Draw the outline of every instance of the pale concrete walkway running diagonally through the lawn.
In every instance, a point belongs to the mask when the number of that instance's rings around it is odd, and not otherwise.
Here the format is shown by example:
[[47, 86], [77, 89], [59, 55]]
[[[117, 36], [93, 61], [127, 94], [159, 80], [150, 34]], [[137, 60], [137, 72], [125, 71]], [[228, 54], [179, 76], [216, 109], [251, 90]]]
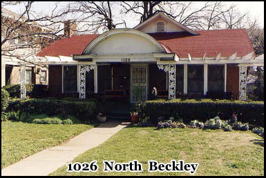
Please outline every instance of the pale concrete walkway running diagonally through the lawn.
[[119, 121], [109, 121], [102, 123], [97, 128], [92, 128], [66, 144], [48, 148], [35, 155], [26, 157], [21, 161], [3, 168], [2, 176], [44, 176], [65, 166], [66, 163], [73, 161], [75, 157], [86, 152], [86, 150], [99, 146], [107, 139], [115, 135], [122, 128], [129, 126], [130, 123]]

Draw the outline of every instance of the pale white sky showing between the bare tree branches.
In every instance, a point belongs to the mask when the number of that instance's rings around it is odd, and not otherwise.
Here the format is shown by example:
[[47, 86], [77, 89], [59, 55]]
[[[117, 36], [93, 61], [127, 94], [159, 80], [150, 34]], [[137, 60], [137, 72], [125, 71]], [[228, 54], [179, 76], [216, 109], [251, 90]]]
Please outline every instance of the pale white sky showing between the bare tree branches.
[[[53, 7], [55, 6], [55, 3], [59, 3], [58, 1], [38, 1], [33, 3], [32, 8], [34, 10], [38, 10], [39, 12], [51, 12]], [[67, 3], [67, 2], [66, 2]], [[204, 3], [202, 1], [202, 3]], [[264, 27], [264, 1], [228, 1], [228, 4], [230, 3], [236, 3], [238, 6], [238, 9], [240, 12], [246, 12], [249, 11], [252, 18], [258, 19], [258, 24], [260, 27]], [[117, 5], [117, 9], [119, 6]], [[19, 8], [8, 8], [9, 10], [12, 10], [13, 12], [21, 12], [21, 9]], [[119, 19], [126, 20], [126, 26], [127, 28], [133, 28], [137, 26], [140, 19], [139, 17], [136, 17], [135, 14], [128, 14], [128, 15], [122, 15], [120, 14], [120, 10], [117, 10], [115, 14], [118, 15]], [[124, 28], [123, 26], [119, 26], [118, 28]]]

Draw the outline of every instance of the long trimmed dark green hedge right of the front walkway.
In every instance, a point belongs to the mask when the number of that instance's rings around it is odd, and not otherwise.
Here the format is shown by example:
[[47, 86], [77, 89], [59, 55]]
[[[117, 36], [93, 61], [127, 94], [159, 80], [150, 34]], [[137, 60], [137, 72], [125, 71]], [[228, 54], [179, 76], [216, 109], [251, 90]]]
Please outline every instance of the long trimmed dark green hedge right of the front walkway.
[[184, 123], [193, 120], [205, 122], [213, 117], [231, 119], [236, 113], [238, 121], [264, 126], [264, 102], [232, 101], [218, 99], [172, 99], [153, 100], [140, 103], [140, 116], [149, 117], [151, 123], [158, 123], [158, 117], [182, 118]]

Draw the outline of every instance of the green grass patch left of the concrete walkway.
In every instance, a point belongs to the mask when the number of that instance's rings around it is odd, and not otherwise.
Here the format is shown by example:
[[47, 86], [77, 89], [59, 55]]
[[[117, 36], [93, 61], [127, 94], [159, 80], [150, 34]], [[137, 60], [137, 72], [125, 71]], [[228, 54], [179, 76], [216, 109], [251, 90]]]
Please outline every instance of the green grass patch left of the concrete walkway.
[[35, 154], [46, 148], [59, 145], [92, 125], [35, 124], [1, 122], [1, 168]]

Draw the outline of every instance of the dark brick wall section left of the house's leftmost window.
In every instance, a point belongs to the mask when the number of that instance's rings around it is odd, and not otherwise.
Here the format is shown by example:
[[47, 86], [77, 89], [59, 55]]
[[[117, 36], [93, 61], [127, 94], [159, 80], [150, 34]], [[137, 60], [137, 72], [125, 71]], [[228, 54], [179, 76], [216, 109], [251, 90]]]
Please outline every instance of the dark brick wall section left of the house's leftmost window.
[[50, 96], [59, 97], [62, 95], [62, 66], [48, 66], [49, 68], [49, 91]]

